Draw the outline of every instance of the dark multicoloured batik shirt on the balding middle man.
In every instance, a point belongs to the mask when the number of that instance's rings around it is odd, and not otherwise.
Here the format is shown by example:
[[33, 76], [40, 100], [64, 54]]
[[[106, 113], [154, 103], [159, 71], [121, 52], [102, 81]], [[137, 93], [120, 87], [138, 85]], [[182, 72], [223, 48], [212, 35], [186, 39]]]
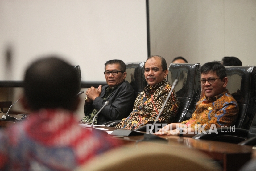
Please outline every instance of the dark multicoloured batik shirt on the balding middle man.
[[[150, 87], [147, 85], [144, 91], [138, 94], [132, 113], [116, 126], [122, 129], [136, 129], [155, 121], [160, 109], [171, 90], [171, 84], [166, 80]], [[159, 117], [159, 122], [172, 123], [176, 117], [179, 101], [173, 91], [167, 101], [163, 112]]]

